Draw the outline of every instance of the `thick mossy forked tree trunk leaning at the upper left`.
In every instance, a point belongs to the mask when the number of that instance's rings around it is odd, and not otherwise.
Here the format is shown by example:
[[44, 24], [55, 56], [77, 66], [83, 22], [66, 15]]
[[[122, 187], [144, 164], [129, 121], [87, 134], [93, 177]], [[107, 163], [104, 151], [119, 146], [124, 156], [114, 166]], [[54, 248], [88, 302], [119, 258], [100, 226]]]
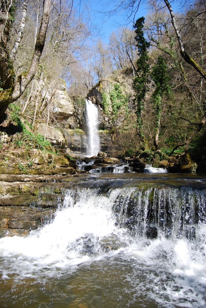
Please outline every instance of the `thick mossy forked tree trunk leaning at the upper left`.
[[[8, 37], [10, 34], [10, 15], [12, 12], [12, 0], [5, 0], [0, 8], [0, 31], [1, 31], [1, 58], [0, 58], [0, 123], [4, 120], [5, 111], [10, 103], [15, 102], [25, 91], [26, 87], [34, 78], [40, 57], [44, 48], [46, 31], [49, 21], [49, 10], [51, 0], [43, 1], [43, 12], [41, 24], [37, 35], [34, 53], [31, 59], [30, 67], [25, 74], [19, 75], [15, 79], [13, 62], [10, 59], [8, 51]], [[14, 80], [15, 79], [15, 80]]]

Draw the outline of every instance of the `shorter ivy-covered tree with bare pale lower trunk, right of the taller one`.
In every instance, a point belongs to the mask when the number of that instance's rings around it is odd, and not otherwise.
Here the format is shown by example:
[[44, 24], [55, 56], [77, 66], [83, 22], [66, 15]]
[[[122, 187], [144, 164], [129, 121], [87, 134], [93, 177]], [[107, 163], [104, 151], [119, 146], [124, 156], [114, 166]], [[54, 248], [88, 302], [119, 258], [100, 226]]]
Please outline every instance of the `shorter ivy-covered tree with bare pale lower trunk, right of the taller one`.
[[162, 100], [170, 92], [168, 67], [164, 58], [159, 55], [156, 65], [152, 68], [151, 77], [156, 85], [155, 91], [151, 96], [153, 108], [155, 109], [155, 137], [154, 146], [157, 150], [159, 144], [160, 119], [162, 114]]

